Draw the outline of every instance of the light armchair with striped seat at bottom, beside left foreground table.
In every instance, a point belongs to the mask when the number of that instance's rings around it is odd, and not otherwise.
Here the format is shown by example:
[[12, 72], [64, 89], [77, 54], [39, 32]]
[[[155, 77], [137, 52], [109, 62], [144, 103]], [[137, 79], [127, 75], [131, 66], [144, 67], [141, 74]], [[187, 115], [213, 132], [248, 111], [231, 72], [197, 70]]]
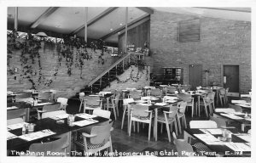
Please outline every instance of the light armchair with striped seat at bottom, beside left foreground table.
[[75, 140], [75, 148], [83, 148], [85, 154], [96, 154], [102, 149], [110, 149], [109, 152], [113, 152], [111, 140], [112, 125], [113, 122], [105, 123], [102, 126], [86, 128], [86, 132], [82, 133], [83, 140]]

